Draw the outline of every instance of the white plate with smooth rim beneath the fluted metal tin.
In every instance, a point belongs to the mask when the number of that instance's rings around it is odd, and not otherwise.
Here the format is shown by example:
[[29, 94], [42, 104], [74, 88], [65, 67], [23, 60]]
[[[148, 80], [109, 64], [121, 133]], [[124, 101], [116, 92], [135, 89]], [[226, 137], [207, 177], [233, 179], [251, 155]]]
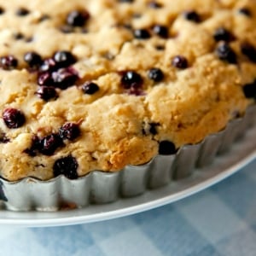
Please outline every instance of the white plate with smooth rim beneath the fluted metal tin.
[[166, 187], [148, 190], [143, 195], [119, 199], [106, 205], [90, 205], [83, 209], [61, 212], [10, 212], [0, 211], [0, 224], [26, 227], [59, 226], [84, 224], [119, 218], [137, 212], [164, 206], [193, 195], [229, 177], [241, 167], [256, 158], [256, 125], [247, 132], [241, 141], [234, 144], [227, 154], [218, 156], [212, 166], [195, 171], [182, 181], [173, 182]]

